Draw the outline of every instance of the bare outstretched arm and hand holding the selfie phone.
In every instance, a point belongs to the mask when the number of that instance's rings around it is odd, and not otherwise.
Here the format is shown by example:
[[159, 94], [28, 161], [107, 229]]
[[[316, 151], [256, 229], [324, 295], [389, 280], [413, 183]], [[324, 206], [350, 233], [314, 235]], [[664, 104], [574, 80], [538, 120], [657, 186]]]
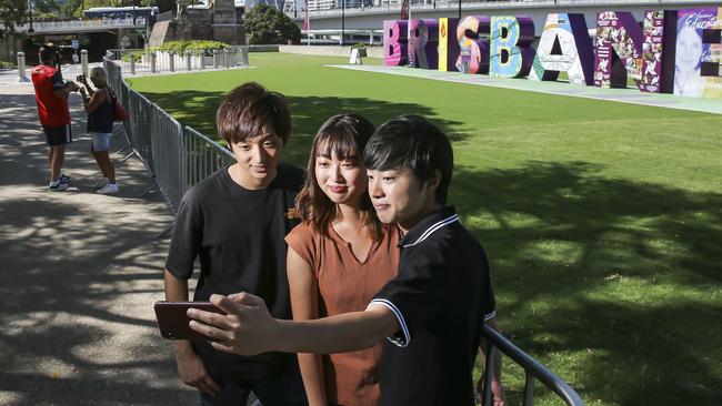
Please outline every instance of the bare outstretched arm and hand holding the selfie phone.
[[385, 306], [369, 306], [312, 321], [271, 317], [262, 298], [248, 293], [212, 295], [211, 302], [228, 315], [190, 308], [192, 329], [213, 341], [215, 349], [240, 355], [270, 351], [284, 353], [345, 353], [368, 348], [399, 331], [399, 322]]

